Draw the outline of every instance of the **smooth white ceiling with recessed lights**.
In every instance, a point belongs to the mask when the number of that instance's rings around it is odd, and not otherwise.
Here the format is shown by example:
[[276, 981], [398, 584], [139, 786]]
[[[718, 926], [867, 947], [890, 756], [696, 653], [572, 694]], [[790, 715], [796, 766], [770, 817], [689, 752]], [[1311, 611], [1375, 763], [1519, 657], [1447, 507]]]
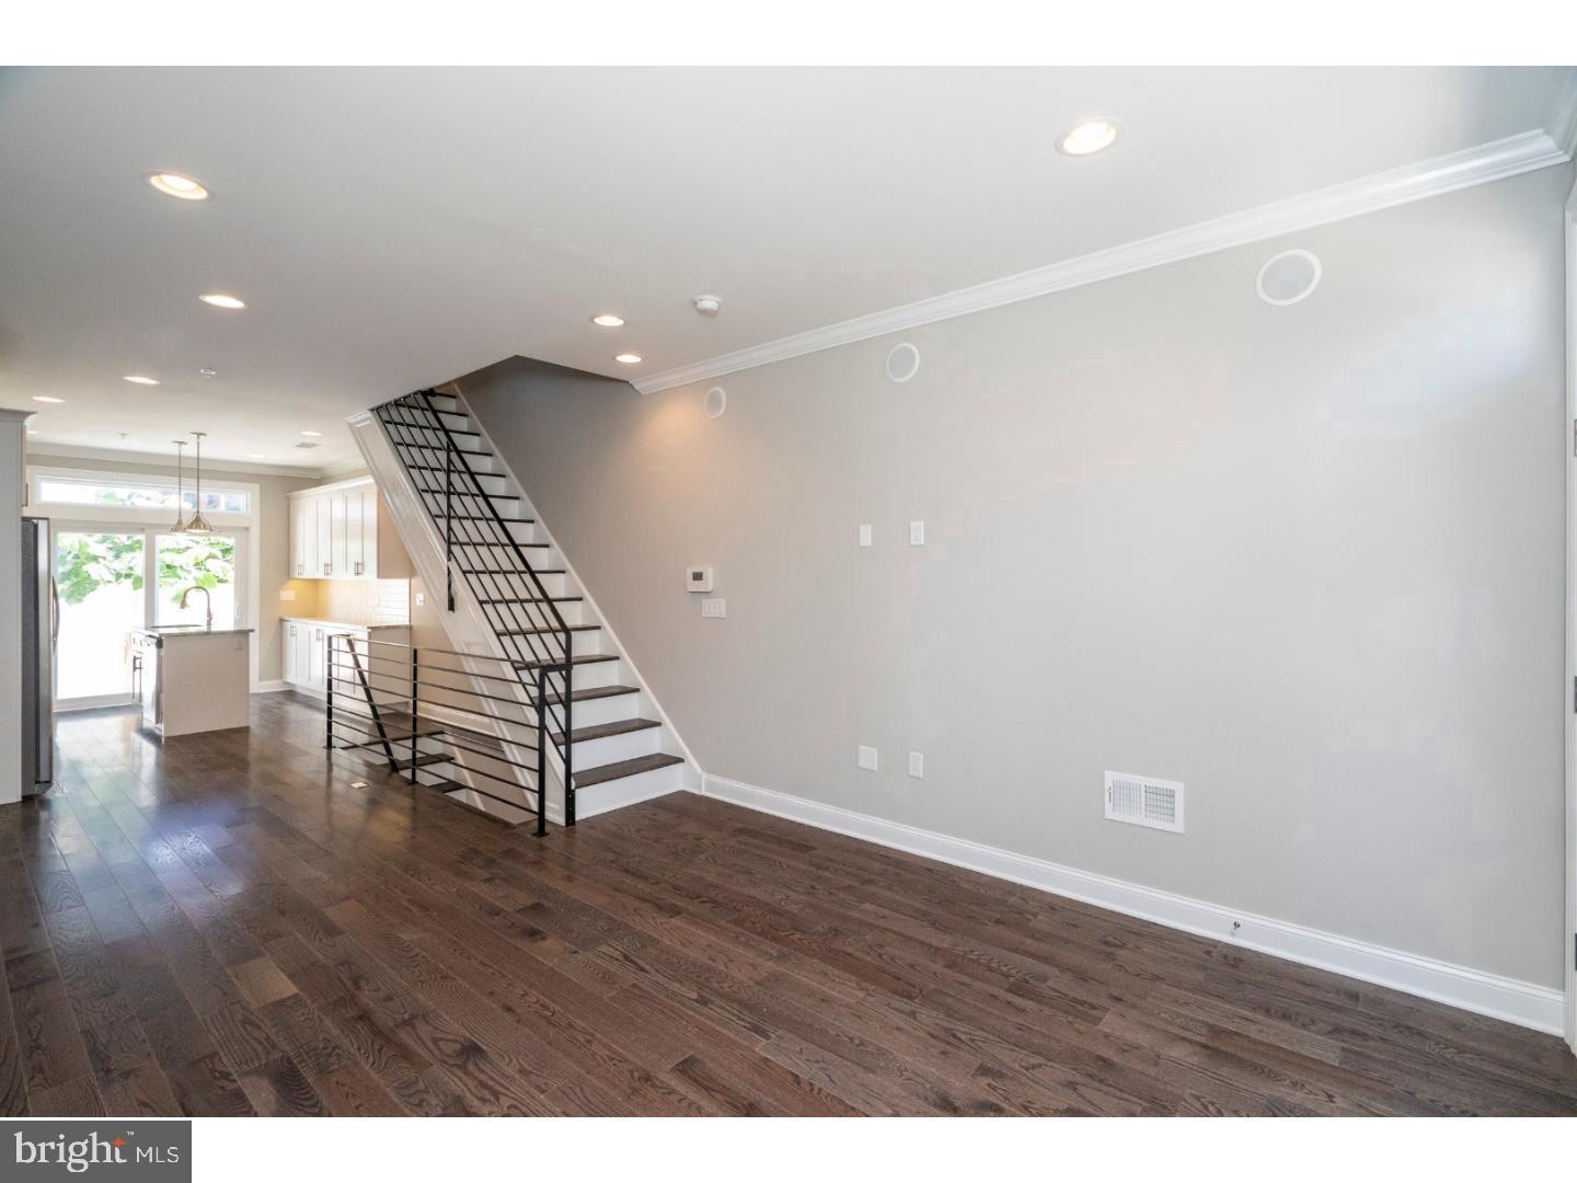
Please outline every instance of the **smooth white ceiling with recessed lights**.
[[[672, 369], [1544, 128], [1560, 80], [8, 69], [0, 405], [38, 410], [38, 443], [164, 451], [199, 429], [205, 457], [333, 467], [355, 457], [345, 415], [513, 353]], [[1053, 150], [1096, 114], [1126, 126], [1113, 150]], [[213, 200], [159, 196], [155, 169]], [[699, 292], [721, 315], [692, 311]], [[615, 364], [623, 349], [645, 364]], [[319, 450], [295, 450], [303, 429]]]

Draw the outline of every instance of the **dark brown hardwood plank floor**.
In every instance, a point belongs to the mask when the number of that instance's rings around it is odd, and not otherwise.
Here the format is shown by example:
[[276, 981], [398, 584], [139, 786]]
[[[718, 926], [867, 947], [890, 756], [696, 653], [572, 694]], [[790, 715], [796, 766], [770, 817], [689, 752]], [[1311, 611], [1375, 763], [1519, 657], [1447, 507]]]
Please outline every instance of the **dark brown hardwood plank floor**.
[[0, 809], [0, 1114], [1577, 1114], [1553, 1036], [713, 800], [136, 724]]

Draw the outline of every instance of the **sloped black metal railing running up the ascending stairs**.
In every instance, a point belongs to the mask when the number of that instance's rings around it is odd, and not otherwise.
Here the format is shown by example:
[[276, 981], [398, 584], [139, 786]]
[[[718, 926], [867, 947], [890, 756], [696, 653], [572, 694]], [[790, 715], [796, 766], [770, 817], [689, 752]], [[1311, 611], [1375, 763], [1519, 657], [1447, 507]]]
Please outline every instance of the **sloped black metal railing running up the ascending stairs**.
[[[453, 396], [448, 396], [453, 397]], [[459, 404], [457, 404], [459, 405]], [[434, 405], [432, 391], [418, 391], [375, 409], [385, 435], [440, 532], [445, 546], [446, 603], [454, 610], [454, 576], [472, 592], [517, 681], [539, 715], [546, 741], [558, 735], [565, 782], [565, 825], [574, 825], [574, 634], [547, 593], [541, 573], [511, 532], [456, 431]], [[438, 478], [442, 476], [442, 487]]]

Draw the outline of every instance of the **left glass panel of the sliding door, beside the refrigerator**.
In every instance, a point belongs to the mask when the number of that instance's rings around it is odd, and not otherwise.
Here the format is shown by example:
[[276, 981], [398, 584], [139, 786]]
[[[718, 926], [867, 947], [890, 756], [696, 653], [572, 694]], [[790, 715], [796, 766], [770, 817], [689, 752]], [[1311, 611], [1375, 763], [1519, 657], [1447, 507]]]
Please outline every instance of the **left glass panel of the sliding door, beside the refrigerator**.
[[145, 532], [58, 528], [54, 550], [60, 596], [58, 705], [134, 702], [131, 631], [147, 623]]

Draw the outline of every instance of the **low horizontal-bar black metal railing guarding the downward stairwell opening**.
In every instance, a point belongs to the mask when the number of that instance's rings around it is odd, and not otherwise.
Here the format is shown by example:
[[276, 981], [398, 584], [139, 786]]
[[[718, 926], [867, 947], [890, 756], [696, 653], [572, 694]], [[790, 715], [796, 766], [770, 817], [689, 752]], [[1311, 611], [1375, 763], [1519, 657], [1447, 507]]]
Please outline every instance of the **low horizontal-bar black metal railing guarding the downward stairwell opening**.
[[[325, 675], [331, 751], [360, 752], [369, 765], [408, 773], [412, 784], [434, 770], [440, 792], [533, 812], [536, 833], [547, 833], [547, 716], [495, 692], [519, 681], [509, 658], [333, 633]], [[544, 678], [546, 667], [538, 697]]]

